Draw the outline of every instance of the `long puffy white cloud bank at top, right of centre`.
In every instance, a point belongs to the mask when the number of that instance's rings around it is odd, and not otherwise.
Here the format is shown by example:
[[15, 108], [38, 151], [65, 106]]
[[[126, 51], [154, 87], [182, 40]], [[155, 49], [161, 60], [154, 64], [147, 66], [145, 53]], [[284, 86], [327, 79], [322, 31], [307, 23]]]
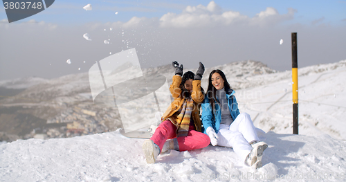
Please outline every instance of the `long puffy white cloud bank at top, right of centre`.
[[208, 6], [188, 6], [181, 12], [175, 14], [168, 12], [160, 19], [161, 27], [205, 27], [205, 26], [228, 26], [232, 24], [247, 24], [265, 26], [268, 24], [278, 24], [281, 21], [293, 19], [294, 12], [289, 8], [289, 12], [280, 15], [275, 8], [268, 7], [266, 10], [258, 13], [255, 17], [250, 18], [240, 12], [226, 11], [223, 12], [214, 1], [210, 1]]

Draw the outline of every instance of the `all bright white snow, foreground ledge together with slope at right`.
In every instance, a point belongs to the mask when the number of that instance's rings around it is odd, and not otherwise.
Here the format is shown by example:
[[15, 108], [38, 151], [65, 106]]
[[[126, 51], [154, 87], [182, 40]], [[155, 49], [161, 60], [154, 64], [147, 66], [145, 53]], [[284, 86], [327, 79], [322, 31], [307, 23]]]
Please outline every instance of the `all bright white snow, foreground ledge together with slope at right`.
[[219, 67], [238, 87], [239, 111], [266, 131], [260, 169], [246, 167], [233, 149], [212, 145], [172, 150], [148, 165], [141, 149], [145, 139], [126, 138], [117, 130], [1, 143], [0, 181], [346, 181], [346, 61], [298, 70], [299, 135], [291, 134], [290, 71], [251, 76]]

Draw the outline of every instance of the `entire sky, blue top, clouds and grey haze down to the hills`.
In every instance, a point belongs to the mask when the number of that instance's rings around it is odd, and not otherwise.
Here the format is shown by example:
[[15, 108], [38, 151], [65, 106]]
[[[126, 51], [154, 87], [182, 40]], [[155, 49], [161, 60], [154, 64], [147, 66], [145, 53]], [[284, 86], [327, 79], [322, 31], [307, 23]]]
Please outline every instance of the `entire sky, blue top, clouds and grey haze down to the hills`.
[[255, 60], [285, 71], [292, 32], [299, 67], [346, 60], [346, 1], [55, 1], [10, 24], [0, 6], [0, 80], [86, 72], [127, 48], [143, 68]]

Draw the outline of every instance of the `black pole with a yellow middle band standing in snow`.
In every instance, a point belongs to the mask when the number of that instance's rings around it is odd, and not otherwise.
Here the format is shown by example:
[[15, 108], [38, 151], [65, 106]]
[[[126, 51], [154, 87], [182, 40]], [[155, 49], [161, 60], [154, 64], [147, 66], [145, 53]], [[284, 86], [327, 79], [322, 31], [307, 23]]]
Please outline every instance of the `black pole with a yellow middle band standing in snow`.
[[298, 134], [298, 58], [297, 33], [292, 37], [292, 96], [293, 96], [293, 134]]

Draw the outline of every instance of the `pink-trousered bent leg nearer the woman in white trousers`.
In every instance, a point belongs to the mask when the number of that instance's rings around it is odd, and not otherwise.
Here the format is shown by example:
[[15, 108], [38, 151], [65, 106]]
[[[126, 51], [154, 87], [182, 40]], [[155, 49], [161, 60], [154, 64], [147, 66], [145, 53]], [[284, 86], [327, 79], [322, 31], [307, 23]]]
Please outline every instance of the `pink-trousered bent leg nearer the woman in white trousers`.
[[190, 127], [188, 136], [180, 136], [177, 138], [179, 151], [201, 149], [210, 144], [210, 138], [208, 135], [195, 131], [193, 128], [193, 126]]

